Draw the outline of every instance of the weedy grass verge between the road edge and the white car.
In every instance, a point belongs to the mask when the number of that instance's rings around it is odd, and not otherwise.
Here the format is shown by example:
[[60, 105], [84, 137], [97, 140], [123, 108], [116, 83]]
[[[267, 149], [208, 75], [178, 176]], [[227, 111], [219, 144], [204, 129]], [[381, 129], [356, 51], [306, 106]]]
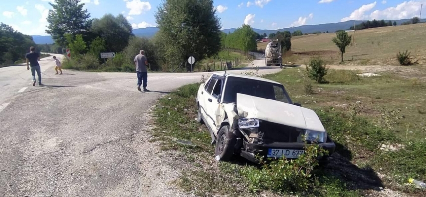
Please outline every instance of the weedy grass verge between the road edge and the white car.
[[[209, 133], [205, 126], [194, 120], [199, 85], [179, 88], [161, 98], [154, 109], [157, 128], [152, 132], [153, 141], [160, 140], [163, 150], [185, 153], [183, 160], [193, 165], [193, 168], [185, 169], [178, 180], [181, 189], [198, 196], [359, 196], [358, 189], [350, 189], [337, 175], [324, 173], [327, 169], [315, 167], [315, 162], [309, 158], [293, 162], [278, 160], [260, 166], [239, 157], [232, 162], [215, 161]], [[295, 169], [299, 168], [303, 168], [303, 173], [296, 173]]]

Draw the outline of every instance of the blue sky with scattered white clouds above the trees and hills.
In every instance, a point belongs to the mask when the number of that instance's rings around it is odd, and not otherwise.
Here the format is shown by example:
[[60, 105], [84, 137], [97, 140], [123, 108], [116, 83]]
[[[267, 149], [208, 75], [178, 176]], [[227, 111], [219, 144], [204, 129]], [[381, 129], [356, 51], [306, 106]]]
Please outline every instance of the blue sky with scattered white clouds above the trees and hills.
[[[47, 16], [54, 0], [1, 0], [0, 22], [27, 35], [47, 35]], [[156, 26], [162, 0], [80, 0], [92, 18], [123, 14], [133, 28]], [[396, 20], [420, 15], [426, 0], [214, 0], [222, 29], [249, 24], [276, 30], [347, 20]], [[426, 8], [424, 16], [426, 17]], [[422, 17], [422, 18], [425, 18]]]

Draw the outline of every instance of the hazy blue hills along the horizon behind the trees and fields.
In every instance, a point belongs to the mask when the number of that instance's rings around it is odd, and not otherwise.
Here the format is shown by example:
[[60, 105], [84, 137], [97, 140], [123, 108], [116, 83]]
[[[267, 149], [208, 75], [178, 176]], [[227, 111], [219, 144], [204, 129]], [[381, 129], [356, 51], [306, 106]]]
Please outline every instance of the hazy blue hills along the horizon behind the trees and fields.
[[[385, 20], [388, 21], [388, 20]], [[396, 23], [398, 25], [400, 25], [401, 23], [410, 21], [410, 19], [401, 19], [401, 20], [391, 20], [396, 21]], [[351, 21], [345, 21], [345, 22], [339, 22], [339, 23], [326, 23], [326, 24], [319, 24], [319, 25], [302, 25], [299, 27], [292, 27], [292, 28], [283, 28], [283, 29], [279, 29], [279, 30], [260, 30], [260, 29], [256, 29], [253, 28], [253, 30], [259, 34], [263, 34], [266, 33], [267, 35], [269, 35], [270, 33], [276, 33], [277, 31], [290, 31], [290, 32], [294, 32], [297, 30], [302, 31], [302, 33], [313, 33], [313, 32], [335, 32], [337, 30], [346, 30], [349, 29], [351, 26], [355, 24], [359, 24], [365, 21], [355, 21], [355, 20], [351, 20]], [[421, 22], [426, 22], [426, 19], [421, 19]], [[233, 33], [236, 30], [236, 28], [231, 28], [231, 29], [224, 29], [222, 30], [222, 32], [224, 33]], [[138, 37], [146, 37], [146, 38], [151, 38], [152, 36], [155, 35], [155, 33], [158, 32], [158, 28], [157, 27], [147, 27], [147, 28], [138, 28], [138, 29], [134, 29], [133, 30], [133, 34], [135, 34]], [[50, 35], [46, 35], [46, 36], [40, 36], [40, 35], [33, 35], [33, 40], [34, 42], [36, 42], [36, 44], [53, 44], [54, 41], [52, 40], [52, 37]]]

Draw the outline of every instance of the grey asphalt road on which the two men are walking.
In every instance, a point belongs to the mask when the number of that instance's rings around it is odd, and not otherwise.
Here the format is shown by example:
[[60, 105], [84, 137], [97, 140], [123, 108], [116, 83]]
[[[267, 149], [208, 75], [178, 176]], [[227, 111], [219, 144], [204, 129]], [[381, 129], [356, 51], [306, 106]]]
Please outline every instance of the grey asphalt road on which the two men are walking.
[[162, 178], [176, 169], [148, 142], [146, 114], [207, 73], [148, 73], [151, 91], [141, 93], [135, 73], [54, 75], [52, 57], [40, 64], [44, 86], [35, 87], [26, 66], [0, 68], [0, 196], [177, 196]]

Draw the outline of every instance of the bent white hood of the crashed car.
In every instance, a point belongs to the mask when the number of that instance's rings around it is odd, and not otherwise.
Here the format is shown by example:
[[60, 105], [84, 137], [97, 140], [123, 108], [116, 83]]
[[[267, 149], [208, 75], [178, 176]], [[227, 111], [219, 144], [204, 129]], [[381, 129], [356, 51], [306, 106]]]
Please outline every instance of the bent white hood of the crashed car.
[[238, 115], [295, 128], [325, 132], [317, 114], [304, 107], [237, 93]]

